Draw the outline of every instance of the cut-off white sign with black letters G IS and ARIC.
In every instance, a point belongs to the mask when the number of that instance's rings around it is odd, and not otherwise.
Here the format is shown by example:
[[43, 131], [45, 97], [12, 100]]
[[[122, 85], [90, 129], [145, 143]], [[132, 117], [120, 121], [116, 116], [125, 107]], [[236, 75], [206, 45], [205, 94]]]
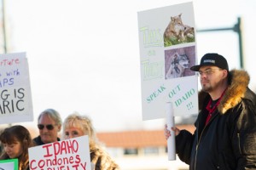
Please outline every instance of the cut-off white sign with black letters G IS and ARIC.
[[33, 121], [26, 53], [0, 55], [0, 124]]

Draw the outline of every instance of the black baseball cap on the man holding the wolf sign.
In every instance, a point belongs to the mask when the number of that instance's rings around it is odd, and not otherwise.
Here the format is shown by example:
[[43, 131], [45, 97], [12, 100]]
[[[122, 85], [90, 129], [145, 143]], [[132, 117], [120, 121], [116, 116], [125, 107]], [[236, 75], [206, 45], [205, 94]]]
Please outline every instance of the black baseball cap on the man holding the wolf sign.
[[199, 71], [200, 67], [204, 66], [204, 65], [217, 66], [218, 68], [229, 71], [228, 62], [224, 58], [224, 56], [222, 56], [220, 54], [215, 54], [215, 53], [205, 54], [201, 58], [200, 65], [194, 65], [194, 66], [190, 67], [190, 70], [191, 71]]

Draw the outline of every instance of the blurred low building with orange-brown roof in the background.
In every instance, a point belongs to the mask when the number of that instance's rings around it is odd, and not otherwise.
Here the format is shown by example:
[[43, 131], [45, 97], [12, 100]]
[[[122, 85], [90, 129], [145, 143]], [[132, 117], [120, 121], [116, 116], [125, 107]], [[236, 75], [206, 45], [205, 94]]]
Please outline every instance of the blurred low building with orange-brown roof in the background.
[[[177, 125], [194, 133], [193, 125]], [[178, 159], [168, 161], [167, 142], [163, 130], [141, 130], [97, 133], [122, 170], [189, 170]]]

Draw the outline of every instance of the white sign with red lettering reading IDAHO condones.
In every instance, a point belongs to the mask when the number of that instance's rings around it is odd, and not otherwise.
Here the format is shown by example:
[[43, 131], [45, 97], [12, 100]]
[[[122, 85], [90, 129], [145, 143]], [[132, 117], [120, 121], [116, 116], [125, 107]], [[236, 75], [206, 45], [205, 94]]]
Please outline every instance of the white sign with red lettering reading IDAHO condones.
[[31, 170], [90, 170], [88, 136], [62, 140], [28, 149]]

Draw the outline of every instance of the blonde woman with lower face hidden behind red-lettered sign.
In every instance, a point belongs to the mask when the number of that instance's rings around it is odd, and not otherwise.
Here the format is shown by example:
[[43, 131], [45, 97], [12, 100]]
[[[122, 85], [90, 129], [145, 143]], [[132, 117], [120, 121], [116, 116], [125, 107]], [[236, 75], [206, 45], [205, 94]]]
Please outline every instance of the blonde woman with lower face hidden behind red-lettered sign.
[[73, 113], [63, 123], [63, 139], [72, 139], [83, 135], [89, 136], [90, 162], [95, 170], [119, 170], [119, 166], [108, 153], [102, 149], [102, 145], [96, 138], [96, 133], [90, 119]]

